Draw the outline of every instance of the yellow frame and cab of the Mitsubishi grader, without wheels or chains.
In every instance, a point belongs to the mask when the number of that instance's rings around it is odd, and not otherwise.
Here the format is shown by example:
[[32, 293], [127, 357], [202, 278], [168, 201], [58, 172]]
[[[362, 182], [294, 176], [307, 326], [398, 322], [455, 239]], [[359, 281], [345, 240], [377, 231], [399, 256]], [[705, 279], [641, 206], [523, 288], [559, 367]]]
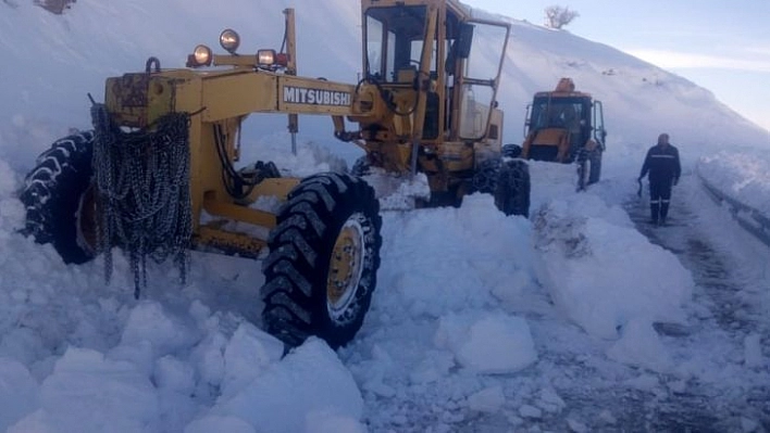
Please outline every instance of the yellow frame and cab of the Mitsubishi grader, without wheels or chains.
[[[209, 50], [199, 63], [190, 55], [187, 68], [161, 69], [150, 59], [145, 72], [107, 80], [107, 111], [121, 128], [152, 130], [166, 114], [189, 114], [194, 245], [256, 254], [275, 215], [251, 204], [260, 196], [284, 199], [299, 182], [269, 178], [246, 196], [227, 191], [218, 145], [228, 161], [238, 161], [240, 125], [250, 114], [287, 114], [291, 132], [298, 115], [331, 116], [334, 135], [363, 148], [372, 166], [424, 173], [437, 199], [458, 200], [480, 161], [499, 154], [502, 112], [496, 91], [509, 25], [474, 20], [456, 0], [362, 0], [361, 7], [358, 84], [297, 75], [291, 9], [285, 11], [286, 52], [272, 53], [283, 64]], [[487, 36], [497, 38], [492, 67], [474, 51]], [[266, 230], [233, 230], [233, 221]]]

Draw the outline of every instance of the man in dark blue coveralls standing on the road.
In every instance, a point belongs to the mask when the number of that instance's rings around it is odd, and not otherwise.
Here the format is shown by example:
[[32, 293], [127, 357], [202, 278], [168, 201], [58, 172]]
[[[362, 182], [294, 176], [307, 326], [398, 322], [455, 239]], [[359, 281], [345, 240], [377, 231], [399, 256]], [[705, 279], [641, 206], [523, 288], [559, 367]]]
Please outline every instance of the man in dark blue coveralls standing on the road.
[[644, 160], [639, 181], [649, 173], [650, 224], [665, 225], [671, 202], [671, 187], [679, 182], [682, 166], [679, 150], [669, 143], [669, 135], [658, 136], [658, 144], [649, 148]]

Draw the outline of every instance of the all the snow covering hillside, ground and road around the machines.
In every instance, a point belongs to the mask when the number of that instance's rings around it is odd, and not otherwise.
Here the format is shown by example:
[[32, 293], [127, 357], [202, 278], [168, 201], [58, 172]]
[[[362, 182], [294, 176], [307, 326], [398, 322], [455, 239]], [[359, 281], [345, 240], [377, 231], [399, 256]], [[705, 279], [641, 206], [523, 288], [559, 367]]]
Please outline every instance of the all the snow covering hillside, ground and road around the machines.
[[[259, 329], [259, 263], [196, 253], [186, 285], [170, 264], [152, 267], [135, 301], [124, 257], [105, 285], [101, 260], [65, 266], [16, 232], [24, 175], [54, 139], [89, 128], [87, 93], [99, 100], [107, 76], [150, 55], [179, 67], [225, 27], [244, 50], [278, 48], [287, 7], [299, 73], [355, 82], [356, 1], [79, 0], [62, 16], [0, 3], [0, 430], [770, 430], [770, 253], [693, 176], [703, 160], [715, 182], [750, 186], [741, 199], [757, 200], [768, 132], [681, 77], [566, 31], [511, 21], [505, 137], [519, 142], [532, 93], [570, 76], [605, 104], [603, 181], [575, 194], [573, 167], [533, 163], [531, 219], [505, 217], [486, 195], [384, 213], [372, 308], [336, 353], [311, 339], [281, 357]], [[291, 156], [284, 125], [250, 119], [244, 160], [309, 174], [356, 156], [327, 118], [300, 119]], [[647, 233], [669, 242], [656, 244], [629, 212], [645, 211], [635, 179], [663, 131], [685, 170], [679, 224]], [[704, 245], [719, 263], [699, 275], [681, 253]], [[704, 281], [719, 278], [730, 291], [712, 296]]]

